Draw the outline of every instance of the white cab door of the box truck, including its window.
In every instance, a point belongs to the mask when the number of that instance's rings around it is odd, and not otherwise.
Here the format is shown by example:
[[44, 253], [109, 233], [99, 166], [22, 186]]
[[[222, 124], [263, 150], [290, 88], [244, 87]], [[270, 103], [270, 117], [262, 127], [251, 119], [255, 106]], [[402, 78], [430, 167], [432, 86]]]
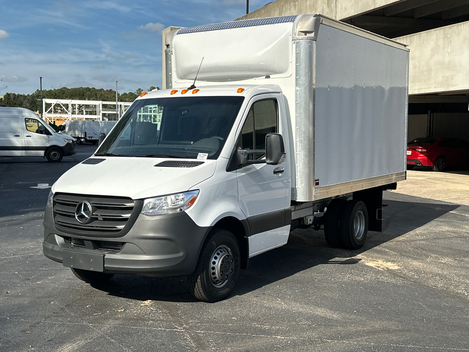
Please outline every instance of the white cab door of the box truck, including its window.
[[[280, 133], [287, 142], [281, 108], [280, 94], [257, 96], [244, 119], [237, 147], [265, 150], [267, 133]], [[254, 158], [265, 159], [265, 155], [254, 154]], [[239, 205], [250, 226], [250, 257], [287, 243], [291, 222], [289, 162], [287, 156], [279, 165], [251, 164], [236, 170]]]

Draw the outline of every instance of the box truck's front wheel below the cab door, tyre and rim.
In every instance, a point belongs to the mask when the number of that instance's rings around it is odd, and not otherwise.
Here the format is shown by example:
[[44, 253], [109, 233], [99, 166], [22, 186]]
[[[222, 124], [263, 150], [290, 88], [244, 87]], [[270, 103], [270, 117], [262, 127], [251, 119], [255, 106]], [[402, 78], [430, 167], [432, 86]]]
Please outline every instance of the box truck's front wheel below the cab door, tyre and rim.
[[240, 270], [241, 255], [236, 237], [227, 230], [212, 229], [189, 275], [191, 293], [203, 302], [227, 298]]

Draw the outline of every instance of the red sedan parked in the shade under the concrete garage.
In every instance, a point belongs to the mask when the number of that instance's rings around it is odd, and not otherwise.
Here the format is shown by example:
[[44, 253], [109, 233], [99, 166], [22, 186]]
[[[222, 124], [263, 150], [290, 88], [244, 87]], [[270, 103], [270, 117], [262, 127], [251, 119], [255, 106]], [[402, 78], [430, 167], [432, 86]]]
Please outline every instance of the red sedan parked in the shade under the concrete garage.
[[407, 144], [407, 169], [430, 166], [443, 171], [447, 166], [469, 164], [469, 143], [461, 138], [416, 138]]

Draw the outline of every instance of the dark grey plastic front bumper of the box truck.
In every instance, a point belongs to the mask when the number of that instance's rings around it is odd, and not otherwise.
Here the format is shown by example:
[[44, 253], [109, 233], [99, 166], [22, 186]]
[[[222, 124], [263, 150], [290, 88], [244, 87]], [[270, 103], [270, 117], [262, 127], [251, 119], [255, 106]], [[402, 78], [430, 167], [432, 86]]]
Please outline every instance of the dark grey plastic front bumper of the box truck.
[[210, 228], [197, 226], [185, 212], [155, 217], [140, 214], [122, 237], [84, 237], [57, 230], [52, 208], [46, 208], [44, 230], [43, 251], [49, 259], [63, 262], [63, 251], [71, 249], [104, 254], [106, 273], [180, 276], [195, 270]]

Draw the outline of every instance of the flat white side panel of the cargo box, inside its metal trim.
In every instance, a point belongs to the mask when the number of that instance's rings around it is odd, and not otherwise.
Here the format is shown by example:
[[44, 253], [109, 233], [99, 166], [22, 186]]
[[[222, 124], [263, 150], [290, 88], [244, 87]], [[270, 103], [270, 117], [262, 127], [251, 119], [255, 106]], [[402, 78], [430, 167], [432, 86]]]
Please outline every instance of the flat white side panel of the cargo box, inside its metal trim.
[[319, 187], [406, 169], [408, 51], [321, 25], [316, 50]]

